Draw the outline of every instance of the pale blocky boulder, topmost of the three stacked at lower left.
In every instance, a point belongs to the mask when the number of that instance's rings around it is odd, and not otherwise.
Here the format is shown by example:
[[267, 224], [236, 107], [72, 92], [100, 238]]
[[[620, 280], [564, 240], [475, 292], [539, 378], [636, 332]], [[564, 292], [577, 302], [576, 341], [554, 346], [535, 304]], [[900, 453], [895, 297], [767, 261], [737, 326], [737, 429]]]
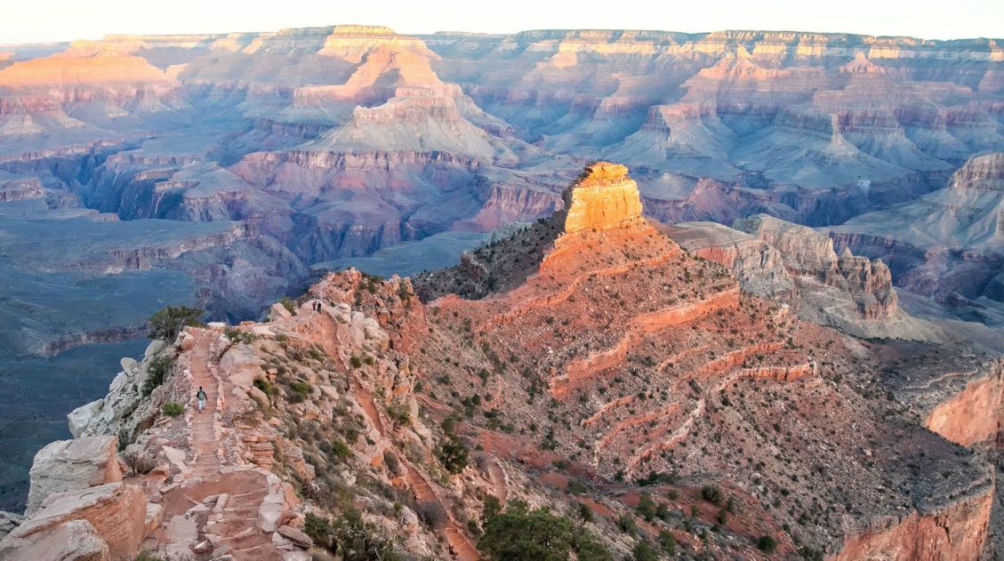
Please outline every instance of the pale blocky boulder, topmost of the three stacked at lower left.
[[25, 513], [37, 512], [47, 497], [57, 493], [120, 482], [117, 446], [116, 437], [84, 437], [56, 441], [38, 451], [31, 465]]

